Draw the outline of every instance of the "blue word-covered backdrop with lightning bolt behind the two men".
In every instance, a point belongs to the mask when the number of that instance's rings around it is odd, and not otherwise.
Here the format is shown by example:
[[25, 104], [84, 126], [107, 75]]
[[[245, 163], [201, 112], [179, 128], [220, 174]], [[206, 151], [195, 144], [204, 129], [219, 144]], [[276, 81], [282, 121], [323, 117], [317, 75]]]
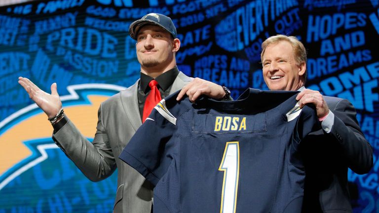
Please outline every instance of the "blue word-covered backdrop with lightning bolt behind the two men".
[[[150, 12], [173, 19], [180, 70], [226, 85], [234, 98], [247, 87], [267, 89], [266, 37], [297, 36], [308, 51], [306, 86], [358, 111], [375, 152], [369, 174], [349, 171], [352, 203], [356, 213], [379, 212], [379, 0], [37, 0], [0, 7], [0, 213], [112, 211], [116, 174], [85, 178], [52, 142], [17, 77], [47, 92], [57, 82], [64, 106], [91, 112], [95, 125], [90, 97], [106, 99], [139, 77], [128, 27]], [[86, 128], [88, 119], [75, 123]], [[28, 121], [34, 129], [25, 131]]]

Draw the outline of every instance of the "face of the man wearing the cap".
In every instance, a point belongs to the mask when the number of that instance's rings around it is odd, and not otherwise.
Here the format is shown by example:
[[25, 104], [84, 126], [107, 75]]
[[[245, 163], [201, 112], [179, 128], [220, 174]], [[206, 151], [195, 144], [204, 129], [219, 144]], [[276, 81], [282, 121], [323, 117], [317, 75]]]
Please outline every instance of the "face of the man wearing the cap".
[[170, 33], [155, 25], [142, 27], [137, 35], [137, 58], [144, 68], [165, 67], [175, 60]]

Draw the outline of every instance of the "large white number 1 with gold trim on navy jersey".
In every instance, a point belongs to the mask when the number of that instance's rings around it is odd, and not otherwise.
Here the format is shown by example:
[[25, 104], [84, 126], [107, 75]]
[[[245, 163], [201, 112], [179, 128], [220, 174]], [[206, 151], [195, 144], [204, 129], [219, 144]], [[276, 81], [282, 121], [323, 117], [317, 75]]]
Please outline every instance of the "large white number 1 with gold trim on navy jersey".
[[220, 213], [235, 213], [239, 177], [238, 142], [227, 142], [219, 171], [224, 171]]

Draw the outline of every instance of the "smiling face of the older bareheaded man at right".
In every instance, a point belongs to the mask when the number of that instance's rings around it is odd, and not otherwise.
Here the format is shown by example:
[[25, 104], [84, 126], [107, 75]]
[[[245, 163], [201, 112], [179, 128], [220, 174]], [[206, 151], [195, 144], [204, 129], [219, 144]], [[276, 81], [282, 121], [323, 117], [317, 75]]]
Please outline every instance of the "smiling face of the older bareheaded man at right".
[[296, 63], [293, 47], [288, 41], [268, 45], [262, 65], [263, 77], [270, 90], [296, 91], [303, 86], [301, 77], [305, 73], [305, 63]]

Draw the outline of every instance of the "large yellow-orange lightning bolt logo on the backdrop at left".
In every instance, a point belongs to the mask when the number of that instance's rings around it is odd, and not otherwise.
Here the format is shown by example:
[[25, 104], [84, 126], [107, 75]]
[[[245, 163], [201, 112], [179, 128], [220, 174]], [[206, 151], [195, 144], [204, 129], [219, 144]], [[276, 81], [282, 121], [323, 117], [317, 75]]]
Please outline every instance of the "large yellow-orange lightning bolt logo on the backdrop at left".
[[[65, 113], [86, 138], [92, 138], [96, 131], [96, 115], [100, 103], [125, 87], [80, 84], [68, 86], [67, 89], [70, 95], [61, 97]], [[27, 106], [0, 122], [0, 190], [14, 178], [47, 159], [46, 149], [58, 148], [51, 139], [52, 130], [46, 115], [36, 104]], [[48, 138], [50, 140], [41, 140]]]

